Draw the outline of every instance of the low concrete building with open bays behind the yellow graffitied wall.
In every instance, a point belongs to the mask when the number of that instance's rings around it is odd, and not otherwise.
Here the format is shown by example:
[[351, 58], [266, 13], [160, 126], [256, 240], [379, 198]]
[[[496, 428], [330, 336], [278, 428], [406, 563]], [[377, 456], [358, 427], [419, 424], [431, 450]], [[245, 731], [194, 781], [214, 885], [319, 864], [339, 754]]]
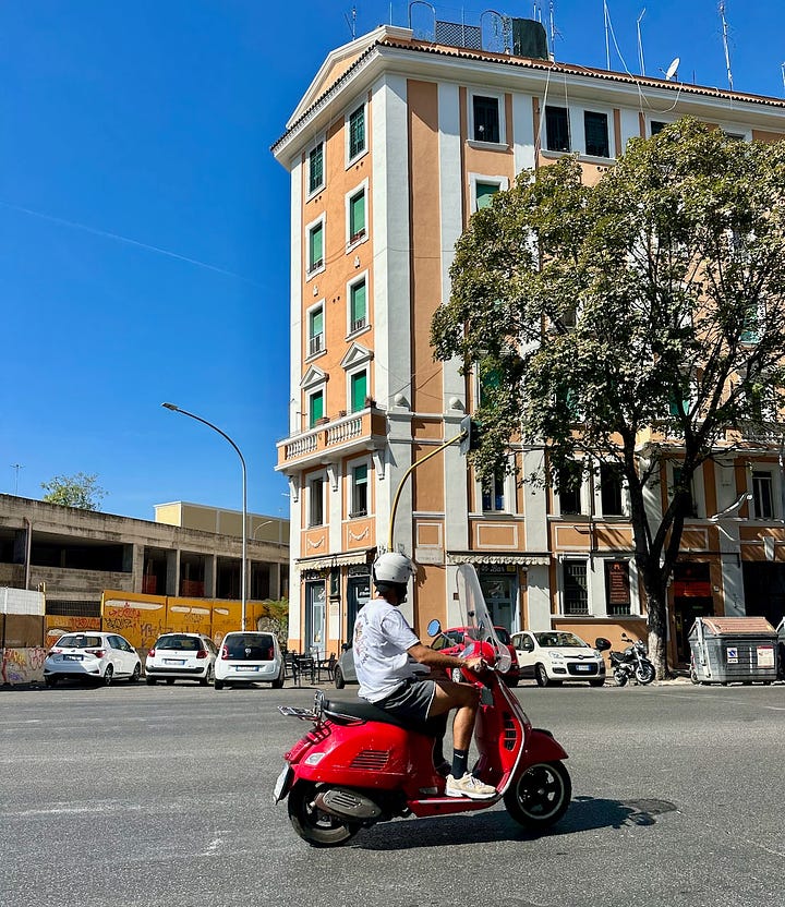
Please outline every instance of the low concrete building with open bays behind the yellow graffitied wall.
[[[100, 615], [106, 589], [240, 598], [242, 515], [177, 501], [156, 522], [0, 495], [0, 586], [45, 592], [47, 614]], [[247, 515], [249, 600], [286, 597], [287, 520]]]

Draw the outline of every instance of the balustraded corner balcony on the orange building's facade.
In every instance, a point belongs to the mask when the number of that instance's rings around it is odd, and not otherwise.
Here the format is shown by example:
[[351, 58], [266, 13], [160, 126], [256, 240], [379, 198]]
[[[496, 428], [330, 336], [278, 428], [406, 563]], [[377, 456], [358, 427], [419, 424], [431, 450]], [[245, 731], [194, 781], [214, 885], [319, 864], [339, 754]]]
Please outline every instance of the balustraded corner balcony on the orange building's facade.
[[379, 450], [386, 443], [387, 416], [375, 407], [366, 407], [278, 442], [276, 470], [298, 472], [316, 463]]

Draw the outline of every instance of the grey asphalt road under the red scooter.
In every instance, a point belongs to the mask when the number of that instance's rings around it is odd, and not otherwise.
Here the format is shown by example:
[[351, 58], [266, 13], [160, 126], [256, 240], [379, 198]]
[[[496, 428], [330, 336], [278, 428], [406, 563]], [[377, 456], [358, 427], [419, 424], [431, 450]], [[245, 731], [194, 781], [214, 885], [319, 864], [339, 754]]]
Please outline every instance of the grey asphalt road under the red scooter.
[[554, 830], [497, 806], [319, 850], [270, 797], [313, 689], [0, 690], [0, 905], [785, 903], [785, 686], [518, 694], [570, 754]]

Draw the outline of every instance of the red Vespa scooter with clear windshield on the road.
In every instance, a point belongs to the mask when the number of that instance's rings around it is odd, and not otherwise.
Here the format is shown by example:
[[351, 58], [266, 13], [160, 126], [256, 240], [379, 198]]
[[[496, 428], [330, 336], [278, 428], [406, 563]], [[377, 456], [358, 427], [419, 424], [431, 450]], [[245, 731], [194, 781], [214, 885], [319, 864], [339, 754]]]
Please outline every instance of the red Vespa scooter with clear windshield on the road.
[[[567, 753], [547, 730], [533, 728], [520, 703], [500, 679], [509, 650], [496, 637], [474, 568], [458, 568], [459, 600], [478, 641], [463, 651], [488, 663], [482, 682], [461, 668], [462, 679], [482, 687], [474, 727], [480, 753], [473, 773], [493, 785], [488, 800], [445, 795], [445, 779], [433, 765], [434, 731], [412, 727], [363, 700], [328, 701], [317, 692], [314, 709], [279, 706], [283, 715], [312, 722], [286, 753], [287, 764], [274, 800], [288, 797], [294, 831], [314, 847], [345, 844], [361, 829], [397, 817], [451, 815], [487, 809], [504, 800], [522, 825], [542, 830], [566, 812], [572, 793], [563, 760]], [[437, 636], [437, 620], [428, 633]], [[461, 678], [457, 678], [461, 679]]]

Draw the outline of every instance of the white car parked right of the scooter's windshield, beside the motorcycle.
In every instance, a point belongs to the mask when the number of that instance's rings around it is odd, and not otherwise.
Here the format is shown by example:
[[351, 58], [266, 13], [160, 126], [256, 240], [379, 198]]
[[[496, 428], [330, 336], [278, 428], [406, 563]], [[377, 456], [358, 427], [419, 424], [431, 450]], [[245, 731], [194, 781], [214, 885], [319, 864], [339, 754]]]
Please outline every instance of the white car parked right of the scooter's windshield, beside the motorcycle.
[[583, 680], [592, 687], [605, 682], [605, 660], [575, 633], [548, 630], [515, 633], [521, 677], [533, 677], [541, 687], [559, 686], [565, 680]]

